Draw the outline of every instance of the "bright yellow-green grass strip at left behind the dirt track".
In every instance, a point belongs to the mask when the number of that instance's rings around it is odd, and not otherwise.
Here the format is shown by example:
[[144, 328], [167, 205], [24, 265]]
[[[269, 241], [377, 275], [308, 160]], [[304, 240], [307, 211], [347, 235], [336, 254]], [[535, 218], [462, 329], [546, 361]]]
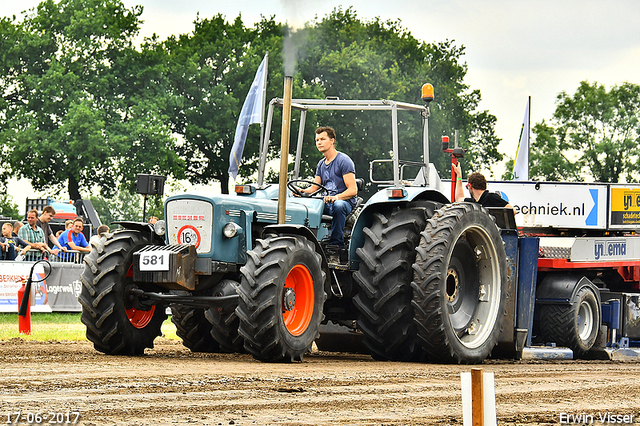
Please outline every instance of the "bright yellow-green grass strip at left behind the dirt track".
[[[166, 339], [180, 340], [170, 317], [162, 324], [161, 331]], [[18, 314], [0, 313], [0, 340], [13, 338], [38, 342], [87, 340], [79, 313], [31, 313], [31, 334], [18, 333]]]

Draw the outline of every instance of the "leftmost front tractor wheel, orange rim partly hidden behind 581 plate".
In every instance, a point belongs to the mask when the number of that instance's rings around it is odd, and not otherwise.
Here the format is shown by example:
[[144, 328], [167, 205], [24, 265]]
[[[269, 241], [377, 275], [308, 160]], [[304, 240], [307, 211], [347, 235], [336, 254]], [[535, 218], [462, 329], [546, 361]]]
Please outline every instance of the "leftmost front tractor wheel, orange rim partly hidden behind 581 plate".
[[128, 291], [133, 285], [133, 253], [152, 244], [152, 236], [135, 230], [107, 234], [84, 258], [80, 276], [82, 323], [96, 350], [110, 355], [142, 355], [153, 348], [167, 318], [161, 306], [136, 309]]

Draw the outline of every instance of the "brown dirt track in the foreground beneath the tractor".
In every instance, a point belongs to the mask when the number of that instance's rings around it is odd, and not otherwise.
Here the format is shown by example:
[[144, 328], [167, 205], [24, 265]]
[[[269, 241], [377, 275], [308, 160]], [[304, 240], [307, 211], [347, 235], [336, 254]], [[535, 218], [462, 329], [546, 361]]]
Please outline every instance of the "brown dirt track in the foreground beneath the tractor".
[[[581, 415], [586, 424], [624, 415], [640, 424], [640, 363], [481, 368], [495, 373], [500, 425], [582, 424]], [[470, 369], [329, 352], [264, 364], [161, 338], [145, 356], [107, 356], [87, 342], [13, 339], [0, 342], [0, 423], [21, 411], [15, 424], [35, 423], [35, 413], [66, 423], [78, 412], [83, 425], [462, 425], [460, 372]], [[620, 416], [603, 422], [607, 413]]]

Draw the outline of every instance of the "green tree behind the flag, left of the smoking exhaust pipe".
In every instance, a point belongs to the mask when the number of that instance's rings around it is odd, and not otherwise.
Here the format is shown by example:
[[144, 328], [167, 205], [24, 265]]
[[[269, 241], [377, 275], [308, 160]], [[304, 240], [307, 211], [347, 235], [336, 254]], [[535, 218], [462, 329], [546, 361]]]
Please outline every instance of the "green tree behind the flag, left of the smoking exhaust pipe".
[[[191, 34], [172, 36], [162, 43], [172, 87], [167, 115], [172, 130], [182, 137], [177, 148], [188, 159], [186, 176], [190, 182], [206, 184], [215, 179], [221, 182], [222, 191], [227, 191], [238, 116], [266, 52], [267, 100], [282, 96], [282, 32], [282, 25], [273, 18], [263, 18], [254, 28], [247, 28], [240, 17], [230, 22], [216, 15], [198, 17]], [[298, 84], [296, 95], [301, 94], [313, 93]], [[241, 176], [257, 169], [258, 152], [259, 126], [253, 125], [244, 148]]]

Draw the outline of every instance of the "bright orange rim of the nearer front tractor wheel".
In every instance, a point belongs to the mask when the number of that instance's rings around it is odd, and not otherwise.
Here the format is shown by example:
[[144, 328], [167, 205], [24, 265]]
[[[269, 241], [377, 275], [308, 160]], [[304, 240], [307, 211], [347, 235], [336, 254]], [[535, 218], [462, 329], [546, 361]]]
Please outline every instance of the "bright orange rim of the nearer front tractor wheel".
[[282, 319], [289, 333], [299, 336], [309, 327], [313, 316], [313, 278], [306, 266], [296, 265], [289, 271], [284, 286], [295, 292], [295, 304], [290, 311], [285, 310], [283, 304]]

